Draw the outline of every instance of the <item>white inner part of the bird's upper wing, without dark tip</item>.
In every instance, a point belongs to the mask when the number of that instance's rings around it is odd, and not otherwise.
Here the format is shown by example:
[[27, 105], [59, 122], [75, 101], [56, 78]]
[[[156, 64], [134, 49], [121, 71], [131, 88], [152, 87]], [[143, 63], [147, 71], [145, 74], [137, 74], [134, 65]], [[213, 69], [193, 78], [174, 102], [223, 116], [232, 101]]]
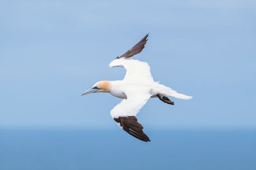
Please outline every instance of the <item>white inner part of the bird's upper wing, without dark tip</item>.
[[132, 59], [115, 59], [109, 64], [109, 67], [124, 67], [127, 70], [124, 81], [136, 83], [154, 82], [150, 73], [150, 66], [147, 62], [141, 62], [139, 60]]

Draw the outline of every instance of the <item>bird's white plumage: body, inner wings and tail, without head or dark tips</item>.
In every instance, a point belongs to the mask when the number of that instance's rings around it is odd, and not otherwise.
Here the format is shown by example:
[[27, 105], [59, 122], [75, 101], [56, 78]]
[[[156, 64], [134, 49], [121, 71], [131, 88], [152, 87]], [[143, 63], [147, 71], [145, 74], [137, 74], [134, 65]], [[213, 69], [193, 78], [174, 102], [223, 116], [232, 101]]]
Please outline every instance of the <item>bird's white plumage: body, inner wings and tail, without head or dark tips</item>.
[[[111, 116], [113, 118], [124, 115], [136, 116], [144, 104], [147, 103], [147, 100], [150, 97], [156, 97], [157, 94], [159, 96], [172, 96], [179, 99], [191, 99], [190, 96], [179, 94], [170, 87], [154, 81], [147, 62], [121, 58], [113, 60], [109, 64], [109, 67], [124, 67], [127, 70], [124, 80], [110, 81], [109, 93], [115, 97], [124, 99], [111, 110]], [[132, 98], [131, 102], [129, 102], [130, 98]]]

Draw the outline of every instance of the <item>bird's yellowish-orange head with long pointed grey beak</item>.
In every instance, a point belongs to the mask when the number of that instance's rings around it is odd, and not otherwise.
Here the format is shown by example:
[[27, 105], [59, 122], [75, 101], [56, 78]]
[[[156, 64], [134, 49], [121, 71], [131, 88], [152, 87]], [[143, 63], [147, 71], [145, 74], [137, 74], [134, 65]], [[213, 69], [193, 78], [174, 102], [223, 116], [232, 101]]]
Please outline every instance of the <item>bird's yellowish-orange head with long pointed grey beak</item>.
[[81, 96], [84, 96], [90, 93], [95, 93], [95, 92], [109, 92], [109, 91], [110, 91], [110, 81], [99, 81], [95, 83], [91, 89], [83, 92]]

